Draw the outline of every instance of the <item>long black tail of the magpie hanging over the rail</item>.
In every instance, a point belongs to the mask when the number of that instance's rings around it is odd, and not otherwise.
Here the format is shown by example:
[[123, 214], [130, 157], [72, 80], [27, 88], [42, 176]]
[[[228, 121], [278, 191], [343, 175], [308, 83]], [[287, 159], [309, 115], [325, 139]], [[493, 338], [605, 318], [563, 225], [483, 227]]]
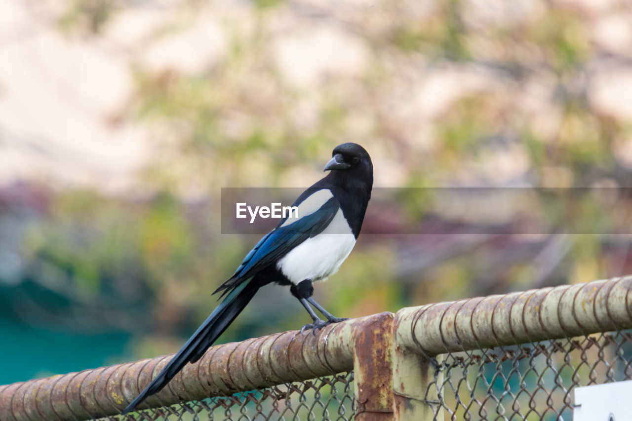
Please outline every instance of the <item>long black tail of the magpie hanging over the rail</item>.
[[205, 320], [202, 326], [186, 341], [181, 350], [171, 359], [171, 361], [162, 369], [155, 379], [145, 387], [135, 400], [121, 412], [125, 415], [131, 412], [145, 398], [162, 390], [167, 383], [173, 379], [174, 375], [185, 367], [188, 362], [196, 362], [209, 349], [219, 335], [221, 335], [226, 327], [233, 322], [235, 317], [241, 313], [244, 307], [252, 300], [257, 293], [258, 287], [253, 286], [252, 279], [236, 286], [231, 293], [219, 303], [217, 308]]

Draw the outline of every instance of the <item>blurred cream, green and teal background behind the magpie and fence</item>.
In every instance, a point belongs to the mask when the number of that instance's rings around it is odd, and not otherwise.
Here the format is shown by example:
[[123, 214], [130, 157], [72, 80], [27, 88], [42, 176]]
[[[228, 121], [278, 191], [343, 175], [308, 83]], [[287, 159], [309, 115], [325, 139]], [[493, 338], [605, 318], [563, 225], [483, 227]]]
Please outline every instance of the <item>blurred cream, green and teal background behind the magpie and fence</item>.
[[[178, 350], [259, 238], [221, 188], [307, 187], [347, 141], [399, 193], [317, 285], [335, 315], [632, 273], [631, 99], [624, 0], [0, 0], [0, 384]], [[267, 286], [219, 342], [308, 321]]]

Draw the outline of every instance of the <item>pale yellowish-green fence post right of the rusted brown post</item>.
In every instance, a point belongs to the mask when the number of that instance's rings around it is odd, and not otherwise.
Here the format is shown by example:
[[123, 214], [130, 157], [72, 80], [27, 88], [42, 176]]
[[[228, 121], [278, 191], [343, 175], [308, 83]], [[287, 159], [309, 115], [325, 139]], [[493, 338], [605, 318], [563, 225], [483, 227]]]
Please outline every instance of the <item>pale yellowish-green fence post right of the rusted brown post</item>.
[[[419, 308], [419, 307], [418, 307]], [[413, 331], [417, 310], [403, 308], [393, 321], [393, 419], [443, 420], [443, 374], [420, 353]], [[441, 356], [438, 357], [441, 362]]]

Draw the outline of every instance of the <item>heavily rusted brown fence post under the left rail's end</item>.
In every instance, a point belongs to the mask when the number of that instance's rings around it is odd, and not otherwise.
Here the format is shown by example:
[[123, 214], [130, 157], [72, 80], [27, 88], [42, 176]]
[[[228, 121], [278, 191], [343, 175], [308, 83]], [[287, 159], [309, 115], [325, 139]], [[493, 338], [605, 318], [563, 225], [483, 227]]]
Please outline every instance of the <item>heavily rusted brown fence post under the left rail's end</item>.
[[358, 421], [392, 420], [392, 322], [389, 312], [355, 326], [353, 375]]

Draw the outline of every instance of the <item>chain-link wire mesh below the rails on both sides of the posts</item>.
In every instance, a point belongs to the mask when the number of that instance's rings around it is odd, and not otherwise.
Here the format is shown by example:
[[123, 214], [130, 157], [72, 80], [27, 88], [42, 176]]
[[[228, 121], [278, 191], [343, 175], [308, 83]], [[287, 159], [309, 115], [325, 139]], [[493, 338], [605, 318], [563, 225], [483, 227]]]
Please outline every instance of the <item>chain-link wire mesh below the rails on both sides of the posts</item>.
[[[447, 353], [439, 360], [423, 396], [433, 419], [571, 420], [574, 387], [632, 379], [632, 331]], [[357, 409], [348, 372], [100, 420], [347, 421]]]

